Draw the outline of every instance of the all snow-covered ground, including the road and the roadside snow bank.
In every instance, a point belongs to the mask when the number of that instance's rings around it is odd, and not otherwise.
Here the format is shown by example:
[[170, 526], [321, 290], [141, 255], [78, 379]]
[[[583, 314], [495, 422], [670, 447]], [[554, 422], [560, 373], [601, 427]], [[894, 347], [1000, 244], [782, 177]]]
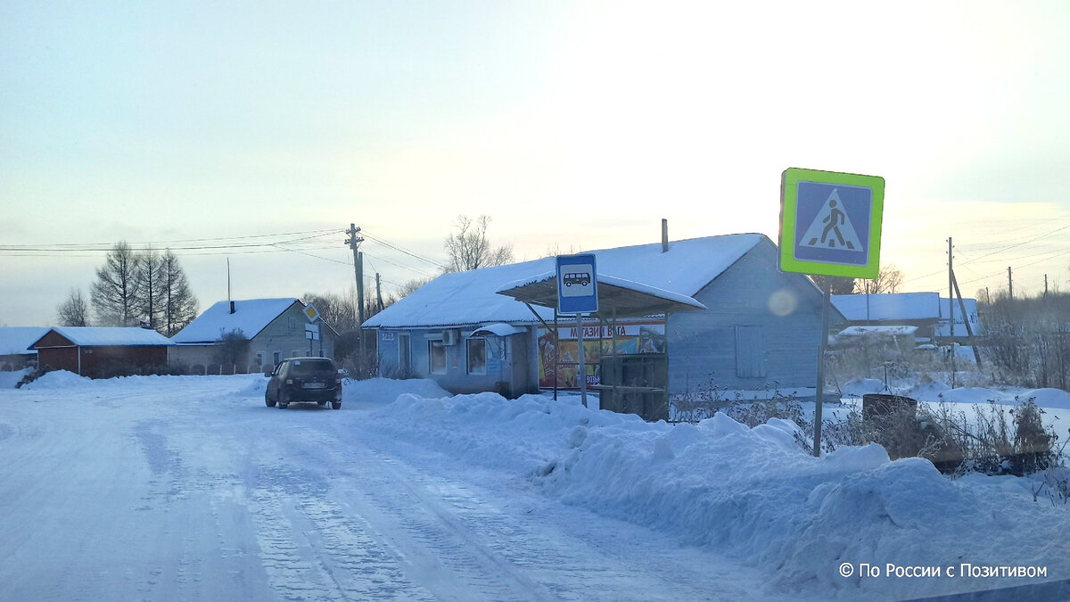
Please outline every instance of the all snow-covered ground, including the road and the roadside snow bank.
[[649, 424], [422, 380], [348, 383], [339, 411], [268, 408], [260, 376], [15, 380], [0, 600], [1070, 596], [1044, 585], [1070, 577], [1070, 508], [1033, 481], [876, 446], [813, 458], [782, 421]]

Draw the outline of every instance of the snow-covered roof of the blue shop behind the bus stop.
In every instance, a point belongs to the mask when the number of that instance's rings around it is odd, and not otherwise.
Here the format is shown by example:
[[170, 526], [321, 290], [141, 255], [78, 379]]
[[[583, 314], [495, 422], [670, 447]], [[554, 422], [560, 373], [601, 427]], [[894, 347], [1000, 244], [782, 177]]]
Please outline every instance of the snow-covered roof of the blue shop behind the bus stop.
[[[761, 241], [764, 235], [727, 235], [679, 240], [661, 252], [661, 243], [592, 251], [599, 282], [629, 283], [646, 291], [660, 291], [681, 302], [690, 298]], [[498, 291], [523, 283], [539, 282], [553, 274], [556, 261], [534, 261], [444, 274], [364, 322], [366, 328], [408, 328], [487, 322], [534, 322], [532, 312], [520, 301]], [[691, 299], [693, 302], [694, 300]], [[691, 303], [693, 304], [693, 303]], [[701, 304], [700, 304], [701, 305]], [[534, 307], [544, 319], [553, 311]]]

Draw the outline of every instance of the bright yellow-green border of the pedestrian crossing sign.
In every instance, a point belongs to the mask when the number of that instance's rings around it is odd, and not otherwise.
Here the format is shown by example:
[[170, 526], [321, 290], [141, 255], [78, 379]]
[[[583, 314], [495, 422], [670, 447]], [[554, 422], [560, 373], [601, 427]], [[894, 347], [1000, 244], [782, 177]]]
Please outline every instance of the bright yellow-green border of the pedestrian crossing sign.
[[[823, 261], [802, 261], [795, 258], [795, 228], [798, 183], [814, 182], [844, 186], [858, 186], [873, 191], [870, 210], [869, 256], [865, 266], [843, 266]], [[819, 169], [785, 169], [780, 179], [780, 271], [823, 276], [874, 280], [881, 268], [881, 222], [884, 215], [884, 178]]]

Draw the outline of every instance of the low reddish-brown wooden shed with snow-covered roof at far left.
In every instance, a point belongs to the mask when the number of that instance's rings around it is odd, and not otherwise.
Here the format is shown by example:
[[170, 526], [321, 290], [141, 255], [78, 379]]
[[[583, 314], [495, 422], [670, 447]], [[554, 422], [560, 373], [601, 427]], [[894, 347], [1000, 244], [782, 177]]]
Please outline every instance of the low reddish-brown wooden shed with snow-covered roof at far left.
[[32, 347], [41, 367], [107, 378], [166, 366], [172, 345], [143, 328], [64, 327], [49, 329]]

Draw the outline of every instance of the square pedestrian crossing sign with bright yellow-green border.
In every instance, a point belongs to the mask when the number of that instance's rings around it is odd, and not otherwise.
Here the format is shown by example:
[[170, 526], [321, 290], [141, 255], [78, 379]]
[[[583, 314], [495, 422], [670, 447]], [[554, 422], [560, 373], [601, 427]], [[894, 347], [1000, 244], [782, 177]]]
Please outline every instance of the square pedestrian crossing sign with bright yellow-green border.
[[780, 194], [780, 269], [875, 279], [884, 178], [791, 168]]

